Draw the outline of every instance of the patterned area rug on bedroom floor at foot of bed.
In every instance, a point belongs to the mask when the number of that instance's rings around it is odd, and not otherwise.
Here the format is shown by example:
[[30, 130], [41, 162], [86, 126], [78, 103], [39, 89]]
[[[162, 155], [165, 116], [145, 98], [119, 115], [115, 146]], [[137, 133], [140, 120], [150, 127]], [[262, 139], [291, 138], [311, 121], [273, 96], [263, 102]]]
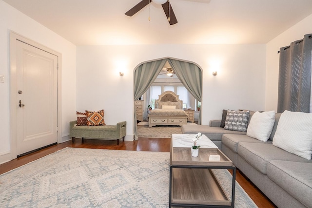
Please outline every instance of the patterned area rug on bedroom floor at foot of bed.
[[170, 138], [173, 133], [182, 133], [181, 127], [137, 126], [138, 137]]

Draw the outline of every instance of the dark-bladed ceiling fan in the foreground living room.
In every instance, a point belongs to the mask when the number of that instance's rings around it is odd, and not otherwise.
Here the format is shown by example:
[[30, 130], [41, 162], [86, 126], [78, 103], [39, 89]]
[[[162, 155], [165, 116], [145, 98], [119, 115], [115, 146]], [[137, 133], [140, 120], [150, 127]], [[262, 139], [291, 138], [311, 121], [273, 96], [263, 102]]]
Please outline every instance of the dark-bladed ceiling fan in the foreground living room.
[[[125, 15], [132, 17], [151, 2], [152, 0], [141, 0], [137, 3], [137, 5], [132, 7], [128, 12], [126, 12]], [[177, 23], [176, 15], [171, 7], [169, 0], [153, 0], [153, 2], [155, 2], [156, 4], [161, 4], [170, 25]]]

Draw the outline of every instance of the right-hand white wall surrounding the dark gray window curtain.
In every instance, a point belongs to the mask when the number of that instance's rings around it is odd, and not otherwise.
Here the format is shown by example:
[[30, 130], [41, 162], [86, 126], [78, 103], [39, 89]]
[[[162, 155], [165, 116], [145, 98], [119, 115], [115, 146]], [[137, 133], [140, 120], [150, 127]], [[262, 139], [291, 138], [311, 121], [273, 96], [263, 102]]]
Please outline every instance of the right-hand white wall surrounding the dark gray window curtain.
[[278, 96], [278, 67], [281, 47], [288, 46], [295, 40], [302, 39], [304, 35], [312, 33], [312, 15], [301, 20], [276, 38], [267, 43], [266, 57], [266, 96], [265, 110], [277, 111]]

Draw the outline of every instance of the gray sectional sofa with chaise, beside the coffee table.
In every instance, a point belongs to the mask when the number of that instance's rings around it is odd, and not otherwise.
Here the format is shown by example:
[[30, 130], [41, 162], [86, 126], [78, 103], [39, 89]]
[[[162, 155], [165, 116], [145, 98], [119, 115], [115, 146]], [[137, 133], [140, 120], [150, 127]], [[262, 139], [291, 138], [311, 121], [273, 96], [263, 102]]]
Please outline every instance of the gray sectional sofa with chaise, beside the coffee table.
[[211, 121], [210, 126], [183, 125], [182, 133], [205, 134], [277, 207], [312, 208], [312, 160], [272, 144], [280, 115], [275, 114], [267, 142], [247, 136], [246, 132], [224, 130], [220, 120]]

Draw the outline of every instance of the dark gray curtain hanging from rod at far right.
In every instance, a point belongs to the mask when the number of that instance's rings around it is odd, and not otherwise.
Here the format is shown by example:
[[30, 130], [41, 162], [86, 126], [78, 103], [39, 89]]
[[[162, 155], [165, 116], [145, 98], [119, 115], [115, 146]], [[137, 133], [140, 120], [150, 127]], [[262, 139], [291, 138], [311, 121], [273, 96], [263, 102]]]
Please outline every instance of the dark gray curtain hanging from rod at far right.
[[311, 113], [312, 34], [280, 48], [277, 112]]

